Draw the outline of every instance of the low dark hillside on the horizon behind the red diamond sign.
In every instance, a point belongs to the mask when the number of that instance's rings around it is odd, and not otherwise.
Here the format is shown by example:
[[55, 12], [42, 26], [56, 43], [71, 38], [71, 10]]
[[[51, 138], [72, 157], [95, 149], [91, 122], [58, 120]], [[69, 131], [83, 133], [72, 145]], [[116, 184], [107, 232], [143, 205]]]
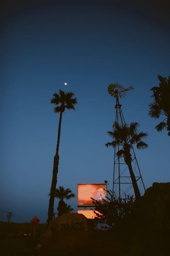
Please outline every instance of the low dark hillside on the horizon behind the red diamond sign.
[[[37, 224], [35, 226], [35, 236], [41, 236], [46, 231], [47, 224]], [[2, 222], [0, 221], [0, 235], [2, 234], [34, 234], [34, 225], [32, 223], [15, 223], [15, 222]]]

